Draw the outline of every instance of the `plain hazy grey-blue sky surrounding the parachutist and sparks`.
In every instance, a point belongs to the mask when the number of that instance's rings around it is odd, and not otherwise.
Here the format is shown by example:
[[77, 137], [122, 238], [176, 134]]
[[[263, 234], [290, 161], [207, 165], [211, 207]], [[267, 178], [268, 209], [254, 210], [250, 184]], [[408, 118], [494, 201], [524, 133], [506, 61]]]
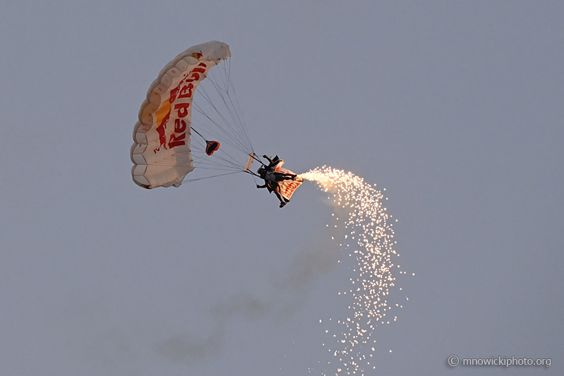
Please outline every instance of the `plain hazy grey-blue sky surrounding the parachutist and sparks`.
[[280, 210], [245, 174], [131, 179], [147, 88], [209, 40], [257, 154], [351, 171], [398, 219], [403, 308], [365, 375], [562, 375], [563, 19], [561, 1], [2, 1], [0, 375], [333, 374], [324, 325], [355, 272], [326, 193]]

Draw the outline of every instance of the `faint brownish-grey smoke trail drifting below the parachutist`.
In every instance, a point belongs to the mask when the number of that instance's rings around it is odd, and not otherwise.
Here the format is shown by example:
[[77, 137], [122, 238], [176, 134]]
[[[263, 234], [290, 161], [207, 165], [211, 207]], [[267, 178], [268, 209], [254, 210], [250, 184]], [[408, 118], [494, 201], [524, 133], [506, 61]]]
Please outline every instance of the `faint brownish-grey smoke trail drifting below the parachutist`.
[[269, 281], [269, 298], [257, 298], [249, 293], [230, 296], [206, 309], [207, 334], [175, 334], [154, 344], [153, 349], [172, 363], [197, 363], [214, 358], [221, 353], [233, 320], [238, 317], [247, 322], [288, 320], [307, 303], [308, 293], [319, 276], [336, 267], [340, 258], [341, 248], [326, 234], [312, 236], [290, 265]]

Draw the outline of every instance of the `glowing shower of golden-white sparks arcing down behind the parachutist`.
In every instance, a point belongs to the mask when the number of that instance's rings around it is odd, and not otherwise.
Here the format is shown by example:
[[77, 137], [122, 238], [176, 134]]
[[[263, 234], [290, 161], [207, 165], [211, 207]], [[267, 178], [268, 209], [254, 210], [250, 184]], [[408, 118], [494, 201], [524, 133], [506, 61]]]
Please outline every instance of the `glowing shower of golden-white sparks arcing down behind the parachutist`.
[[[329, 346], [329, 352], [339, 360], [335, 375], [364, 375], [365, 368], [376, 368], [370, 364], [372, 353], [369, 353], [375, 351], [374, 327], [396, 321], [397, 316], [390, 311], [403, 307], [388, 302], [390, 289], [396, 285], [392, 257], [399, 256], [393, 249], [397, 242], [393, 240], [392, 216], [382, 205], [381, 191], [355, 174], [323, 166], [300, 176], [315, 181], [321, 190], [331, 193], [329, 198], [333, 198], [336, 213], [345, 214], [345, 234], [341, 235], [342, 239], [334, 240], [356, 258], [353, 271], [357, 274], [350, 279], [350, 289], [339, 293], [352, 296], [353, 303], [349, 305], [352, 312], [344, 320], [336, 320], [341, 330], [332, 335], [336, 343]], [[402, 273], [405, 274], [399, 272]]]

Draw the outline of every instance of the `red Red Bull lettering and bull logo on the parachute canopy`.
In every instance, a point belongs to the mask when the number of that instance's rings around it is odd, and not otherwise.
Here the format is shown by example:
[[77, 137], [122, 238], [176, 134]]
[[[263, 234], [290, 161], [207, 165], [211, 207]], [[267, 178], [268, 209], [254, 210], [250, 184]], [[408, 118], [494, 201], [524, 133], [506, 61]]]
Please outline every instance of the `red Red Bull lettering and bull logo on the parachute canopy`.
[[[202, 57], [201, 53], [200, 57]], [[156, 131], [159, 134], [159, 147], [153, 150], [155, 154], [161, 150], [161, 147], [164, 149], [172, 149], [176, 146], [186, 145], [185, 138], [187, 123], [183, 120], [183, 118], [190, 114], [190, 104], [192, 103], [192, 96], [194, 95], [195, 87], [200, 80], [205, 78], [203, 74], [206, 73], [206, 69], [206, 63], [202, 62], [190, 72], [185, 73], [183, 79], [180, 80], [178, 85], [171, 90], [168, 100], [164, 102], [161, 108], [155, 112], [157, 122], [161, 119], [156, 128]], [[174, 119], [173, 133], [171, 133], [171, 137], [169, 138], [167, 144], [166, 126], [168, 125], [168, 121], [171, 119], [173, 109], [176, 111], [176, 119]]]

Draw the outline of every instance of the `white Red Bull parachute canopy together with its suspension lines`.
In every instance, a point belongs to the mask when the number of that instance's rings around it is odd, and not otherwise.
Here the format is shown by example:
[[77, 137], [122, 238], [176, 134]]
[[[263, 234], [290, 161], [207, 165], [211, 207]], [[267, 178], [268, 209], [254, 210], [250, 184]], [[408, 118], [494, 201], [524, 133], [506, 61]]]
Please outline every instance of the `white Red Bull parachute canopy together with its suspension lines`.
[[[223, 42], [198, 44], [176, 56], [151, 84], [133, 131], [131, 175], [137, 185], [178, 187], [195, 169], [208, 171], [195, 180], [245, 171], [254, 153], [231, 66], [228, 60], [221, 63], [229, 56]], [[201, 85], [203, 80], [211, 88]], [[192, 119], [192, 107], [198, 119]]]

